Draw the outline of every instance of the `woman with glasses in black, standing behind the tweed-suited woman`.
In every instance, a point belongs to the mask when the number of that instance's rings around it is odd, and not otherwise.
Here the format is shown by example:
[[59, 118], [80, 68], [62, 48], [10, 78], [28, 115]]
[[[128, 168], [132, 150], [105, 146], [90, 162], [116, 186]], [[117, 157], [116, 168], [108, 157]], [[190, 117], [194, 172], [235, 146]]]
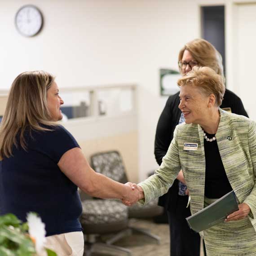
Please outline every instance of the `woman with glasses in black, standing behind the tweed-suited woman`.
[[[217, 74], [223, 76], [221, 54], [212, 44], [203, 39], [194, 39], [180, 50], [178, 57], [179, 69], [182, 75], [187, 74], [194, 66], [211, 67]], [[156, 128], [154, 155], [159, 165], [167, 153], [177, 124], [185, 121], [184, 115], [178, 108], [180, 104], [179, 92], [170, 96], [159, 117]], [[238, 115], [247, 116], [243, 103], [230, 90], [225, 90], [224, 99], [220, 106]], [[159, 205], [165, 207], [170, 227], [171, 256], [199, 256], [200, 237], [190, 230], [186, 217], [191, 215], [188, 203], [189, 191], [185, 186], [182, 171], [174, 181], [172, 187], [159, 198]]]

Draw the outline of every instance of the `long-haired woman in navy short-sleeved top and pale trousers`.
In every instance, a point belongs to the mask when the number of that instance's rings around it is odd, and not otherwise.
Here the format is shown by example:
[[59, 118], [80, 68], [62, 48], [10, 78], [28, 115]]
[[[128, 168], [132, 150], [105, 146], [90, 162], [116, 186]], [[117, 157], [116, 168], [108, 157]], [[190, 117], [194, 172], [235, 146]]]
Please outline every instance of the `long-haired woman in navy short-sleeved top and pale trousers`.
[[0, 214], [26, 221], [37, 212], [46, 247], [58, 256], [82, 256], [77, 188], [100, 198], [137, 200], [131, 188], [96, 173], [62, 125], [62, 98], [53, 75], [24, 72], [13, 81], [0, 124]]

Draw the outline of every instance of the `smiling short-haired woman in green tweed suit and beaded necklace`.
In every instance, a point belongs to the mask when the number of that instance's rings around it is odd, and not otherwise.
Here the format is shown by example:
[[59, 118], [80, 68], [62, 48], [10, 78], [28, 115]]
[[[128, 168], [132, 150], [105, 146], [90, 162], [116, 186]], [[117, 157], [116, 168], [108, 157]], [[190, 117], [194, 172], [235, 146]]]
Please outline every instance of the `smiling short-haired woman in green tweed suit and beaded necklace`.
[[175, 128], [159, 169], [137, 185], [141, 203], [166, 193], [180, 170], [192, 214], [234, 190], [239, 210], [200, 232], [207, 256], [255, 256], [256, 122], [221, 110], [224, 79], [209, 67], [195, 66], [178, 85], [185, 124]]

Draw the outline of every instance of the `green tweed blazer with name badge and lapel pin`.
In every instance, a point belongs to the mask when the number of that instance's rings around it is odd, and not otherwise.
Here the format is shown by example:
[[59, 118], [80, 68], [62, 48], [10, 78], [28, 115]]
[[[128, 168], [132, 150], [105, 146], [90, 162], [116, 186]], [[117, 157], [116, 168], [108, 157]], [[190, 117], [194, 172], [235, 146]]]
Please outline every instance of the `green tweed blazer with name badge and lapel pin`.
[[[242, 115], [220, 111], [216, 141], [225, 172], [239, 203], [251, 208], [250, 221], [256, 230], [256, 122]], [[197, 143], [197, 150], [184, 150], [184, 143]], [[180, 124], [163, 162], [154, 175], [139, 183], [147, 203], [167, 193], [182, 169], [190, 190], [190, 209], [194, 214], [203, 209], [205, 155], [203, 129], [198, 124]], [[218, 189], [218, 188], [216, 188]]]

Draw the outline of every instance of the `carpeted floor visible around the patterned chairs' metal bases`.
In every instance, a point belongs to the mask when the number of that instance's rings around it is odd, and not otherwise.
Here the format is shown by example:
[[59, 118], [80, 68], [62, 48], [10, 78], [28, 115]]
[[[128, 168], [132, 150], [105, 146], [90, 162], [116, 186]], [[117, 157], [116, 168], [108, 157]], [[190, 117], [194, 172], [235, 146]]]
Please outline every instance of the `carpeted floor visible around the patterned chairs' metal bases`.
[[[120, 239], [115, 245], [125, 247], [132, 252], [132, 256], [169, 256], [169, 228], [167, 224], [155, 224], [153, 221], [132, 220], [131, 226], [150, 230], [152, 234], [161, 238], [160, 244], [153, 238], [144, 234], [133, 232], [132, 235]], [[102, 246], [95, 246], [91, 256], [127, 256], [121, 251], [112, 250]]]

